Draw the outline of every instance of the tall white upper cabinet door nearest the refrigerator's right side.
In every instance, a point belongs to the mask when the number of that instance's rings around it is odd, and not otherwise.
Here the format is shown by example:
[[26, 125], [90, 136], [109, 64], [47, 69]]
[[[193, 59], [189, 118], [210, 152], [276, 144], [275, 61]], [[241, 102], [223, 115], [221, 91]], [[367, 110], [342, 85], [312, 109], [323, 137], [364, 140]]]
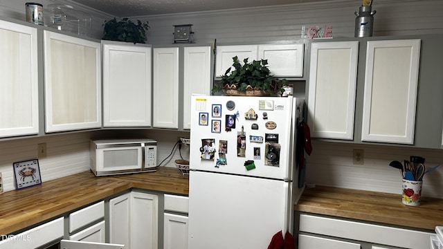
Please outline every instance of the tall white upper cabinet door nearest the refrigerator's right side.
[[315, 138], [354, 138], [359, 42], [311, 46], [308, 123]]

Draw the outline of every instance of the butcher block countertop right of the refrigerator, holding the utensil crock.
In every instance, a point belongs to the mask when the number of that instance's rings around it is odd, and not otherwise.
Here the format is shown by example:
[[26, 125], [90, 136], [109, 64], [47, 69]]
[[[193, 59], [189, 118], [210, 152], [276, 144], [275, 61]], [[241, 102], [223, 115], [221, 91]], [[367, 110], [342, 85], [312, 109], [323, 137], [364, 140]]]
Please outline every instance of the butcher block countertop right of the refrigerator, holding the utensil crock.
[[421, 205], [401, 203], [401, 194], [337, 187], [306, 188], [296, 210], [390, 225], [434, 230], [443, 225], [443, 199], [422, 197]]

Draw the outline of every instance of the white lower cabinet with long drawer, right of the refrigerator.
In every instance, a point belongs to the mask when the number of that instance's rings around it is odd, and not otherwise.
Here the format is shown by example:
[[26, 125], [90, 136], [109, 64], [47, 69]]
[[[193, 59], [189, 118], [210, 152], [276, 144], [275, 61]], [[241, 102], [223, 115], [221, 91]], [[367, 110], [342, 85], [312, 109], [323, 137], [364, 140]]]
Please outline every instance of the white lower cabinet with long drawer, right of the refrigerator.
[[362, 241], [362, 245], [369, 245], [372, 249], [424, 249], [431, 248], [431, 234], [388, 225], [300, 214], [298, 248], [360, 248], [359, 241]]

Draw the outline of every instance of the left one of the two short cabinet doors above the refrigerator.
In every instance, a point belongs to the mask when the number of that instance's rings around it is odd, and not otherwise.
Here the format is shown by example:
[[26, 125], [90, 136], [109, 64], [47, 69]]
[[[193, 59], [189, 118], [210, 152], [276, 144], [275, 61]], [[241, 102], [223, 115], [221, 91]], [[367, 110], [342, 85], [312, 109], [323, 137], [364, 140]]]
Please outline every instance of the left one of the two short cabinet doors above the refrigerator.
[[[237, 56], [243, 63], [243, 59], [248, 58], [248, 62], [257, 59], [257, 45], [236, 45], [217, 46], [217, 57], [215, 62], [215, 77], [221, 77], [233, 64], [233, 57]], [[233, 69], [231, 69], [233, 70]]]

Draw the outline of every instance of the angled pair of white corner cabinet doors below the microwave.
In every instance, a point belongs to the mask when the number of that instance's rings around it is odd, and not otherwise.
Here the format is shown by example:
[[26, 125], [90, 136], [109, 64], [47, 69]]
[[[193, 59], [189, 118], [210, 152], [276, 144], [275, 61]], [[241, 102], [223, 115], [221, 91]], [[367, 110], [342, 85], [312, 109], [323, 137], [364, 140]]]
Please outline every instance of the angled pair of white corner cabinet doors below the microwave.
[[130, 192], [109, 200], [109, 242], [130, 248], [157, 248], [159, 197]]

